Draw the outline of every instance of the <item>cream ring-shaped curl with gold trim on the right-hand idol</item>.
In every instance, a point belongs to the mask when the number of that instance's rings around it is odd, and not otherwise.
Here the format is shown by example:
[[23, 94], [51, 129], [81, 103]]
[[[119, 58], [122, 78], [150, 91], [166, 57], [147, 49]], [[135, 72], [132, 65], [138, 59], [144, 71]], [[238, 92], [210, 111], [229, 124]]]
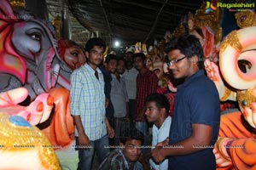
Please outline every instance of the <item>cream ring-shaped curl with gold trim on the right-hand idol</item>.
[[[236, 89], [252, 88], [256, 84], [256, 26], [232, 31], [221, 42], [219, 68], [224, 80]], [[239, 60], [249, 65], [241, 71]]]

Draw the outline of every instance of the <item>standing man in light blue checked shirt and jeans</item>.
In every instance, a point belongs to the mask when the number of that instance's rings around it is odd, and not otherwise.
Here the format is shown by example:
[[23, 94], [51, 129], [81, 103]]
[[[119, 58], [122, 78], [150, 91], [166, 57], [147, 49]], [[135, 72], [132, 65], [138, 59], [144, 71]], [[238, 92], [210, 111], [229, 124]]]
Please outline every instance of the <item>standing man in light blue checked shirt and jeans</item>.
[[[101, 38], [91, 38], [85, 45], [87, 63], [73, 71], [70, 88], [70, 112], [76, 125], [76, 144], [79, 150], [78, 169], [90, 169], [94, 152], [99, 162], [108, 156], [108, 136], [113, 128], [105, 116], [105, 94], [102, 63], [106, 44]], [[108, 135], [107, 135], [108, 131]]]

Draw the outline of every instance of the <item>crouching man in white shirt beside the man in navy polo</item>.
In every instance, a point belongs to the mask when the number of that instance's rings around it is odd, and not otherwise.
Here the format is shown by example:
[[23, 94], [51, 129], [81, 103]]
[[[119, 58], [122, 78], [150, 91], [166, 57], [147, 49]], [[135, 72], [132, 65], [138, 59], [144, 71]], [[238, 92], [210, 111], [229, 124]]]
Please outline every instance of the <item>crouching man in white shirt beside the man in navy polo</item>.
[[[169, 137], [172, 117], [168, 116], [170, 105], [164, 94], [149, 94], [145, 99], [145, 115], [148, 122], [154, 123], [152, 128], [152, 147], [163, 142]], [[151, 168], [154, 170], [168, 169], [168, 159], [160, 163], [149, 159]]]

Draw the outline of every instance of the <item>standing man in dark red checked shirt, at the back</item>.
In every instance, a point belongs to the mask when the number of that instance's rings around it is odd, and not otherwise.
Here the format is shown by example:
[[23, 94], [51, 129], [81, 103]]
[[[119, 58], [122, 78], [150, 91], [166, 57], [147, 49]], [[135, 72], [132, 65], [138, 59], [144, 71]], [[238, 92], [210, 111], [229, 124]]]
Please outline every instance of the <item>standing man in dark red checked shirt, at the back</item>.
[[[137, 53], [133, 56], [135, 68], [139, 71], [137, 75], [137, 93], [136, 93], [136, 113], [134, 122], [136, 127], [144, 135], [144, 145], [148, 144], [147, 133], [148, 124], [145, 120], [144, 102], [149, 94], [156, 93], [158, 88], [158, 77], [153, 71], [146, 67], [146, 56], [143, 53]], [[145, 150], [143, 150], [143, 154]]]

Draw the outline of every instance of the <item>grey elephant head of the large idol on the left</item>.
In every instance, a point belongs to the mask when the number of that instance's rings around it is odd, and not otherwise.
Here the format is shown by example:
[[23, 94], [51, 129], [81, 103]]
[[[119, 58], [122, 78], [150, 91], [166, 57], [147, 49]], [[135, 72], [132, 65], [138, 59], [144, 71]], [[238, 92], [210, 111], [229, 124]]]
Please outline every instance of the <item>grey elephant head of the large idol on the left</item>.
[[54, 29], [0, 1], [0, 92], [25, 87], [30, 100], [54, 88], [60, 69]]

